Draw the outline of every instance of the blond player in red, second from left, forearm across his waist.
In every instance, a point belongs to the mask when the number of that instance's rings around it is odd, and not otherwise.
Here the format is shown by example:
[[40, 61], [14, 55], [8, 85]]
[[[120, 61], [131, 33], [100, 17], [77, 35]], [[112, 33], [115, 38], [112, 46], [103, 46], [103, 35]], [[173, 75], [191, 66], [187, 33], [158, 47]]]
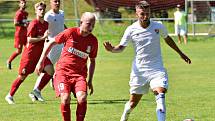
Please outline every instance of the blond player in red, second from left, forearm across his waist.
[[28, 26], [27, 44], [21, 57], [18, 77], [12, 83], [10, 92], [5, 97], [9, 104], [14, 104], [13, 96], [26, 77], [34, 72], [36, 64], [43, 51], [44, 41], [48, 36], [48, 22], [44, 21], [46, 4], [39, 2], [35, 4], [36, 19]]

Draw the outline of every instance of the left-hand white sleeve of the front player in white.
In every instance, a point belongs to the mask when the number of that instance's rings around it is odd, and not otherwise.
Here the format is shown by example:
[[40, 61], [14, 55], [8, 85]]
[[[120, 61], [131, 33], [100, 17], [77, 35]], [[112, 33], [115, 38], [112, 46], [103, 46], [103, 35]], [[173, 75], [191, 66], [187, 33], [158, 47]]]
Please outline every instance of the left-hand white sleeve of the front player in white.
[[130, 31], [130, 27], [128, 27], [125, 32], [124, 32], [124, 35], [120, 41], [120, 45], [122, 46], [127, 46], [128, 45], [128, 42], [131, 40], [131, 31]]

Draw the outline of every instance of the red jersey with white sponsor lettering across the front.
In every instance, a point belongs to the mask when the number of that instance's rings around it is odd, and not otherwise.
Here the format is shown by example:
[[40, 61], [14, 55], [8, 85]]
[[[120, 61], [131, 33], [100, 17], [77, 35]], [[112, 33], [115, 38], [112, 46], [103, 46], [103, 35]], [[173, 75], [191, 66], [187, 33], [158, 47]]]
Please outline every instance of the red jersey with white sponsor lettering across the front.
[[97, 56], [97, 38], [92, 34], [83, 37], [80, 34], [80, 28], [69, 28], [58, 34], [55, 42], [64, 43], [56, 72], [87, 77], [87, 59]]

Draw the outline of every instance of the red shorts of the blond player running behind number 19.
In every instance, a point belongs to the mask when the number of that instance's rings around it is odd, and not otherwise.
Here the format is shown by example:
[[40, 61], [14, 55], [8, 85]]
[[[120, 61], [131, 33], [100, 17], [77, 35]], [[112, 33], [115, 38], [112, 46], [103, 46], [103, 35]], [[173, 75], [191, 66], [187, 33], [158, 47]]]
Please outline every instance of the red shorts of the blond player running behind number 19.
[[[44, 65], [50, 65], [52, 64], [51, 61], [49, 60], [49, 58], [46, 57], [45, 61], [44, 61]], [[31, 61], [31, 62], [20, 62], [20, 66], [19, 66], [19, 75], [28, 75], [34, 72], [35, 68], [37, 65], [37, 61]]]

